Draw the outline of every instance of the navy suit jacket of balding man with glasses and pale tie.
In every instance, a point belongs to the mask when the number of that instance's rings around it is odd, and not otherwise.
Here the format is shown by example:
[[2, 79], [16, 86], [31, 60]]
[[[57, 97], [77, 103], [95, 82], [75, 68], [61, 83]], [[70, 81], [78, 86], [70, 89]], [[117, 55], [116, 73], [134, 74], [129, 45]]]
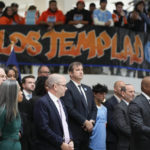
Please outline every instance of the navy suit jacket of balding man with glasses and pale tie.
[[[64, 105], [63, 108], [68, 120]], [[62, 122], [48, 94], [41, 97], [35, 104], [34, 123], [37, 135], [36, 150], [61, 150], [60, 146], [64, 141]]]

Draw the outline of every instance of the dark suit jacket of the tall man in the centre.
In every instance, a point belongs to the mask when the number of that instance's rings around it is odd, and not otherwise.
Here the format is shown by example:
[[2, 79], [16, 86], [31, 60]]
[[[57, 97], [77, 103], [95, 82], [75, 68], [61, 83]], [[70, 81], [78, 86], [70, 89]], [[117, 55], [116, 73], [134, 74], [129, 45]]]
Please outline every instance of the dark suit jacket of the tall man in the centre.
[[88, 106], [85, 102], [85, 99], [83, 99], [79, 90], [72, 81], [67, 83], [68, 90], [63, 97], [68, 111], [69, 125], [74, 140], [84, 140], [86, 137], [88, 137], [88, 133], [82, 128], [83, 123], [85, 120], [96, 120], [97, 114], [97, 108], [91, 88], [83, 84], [81, 86], [86, 94]]

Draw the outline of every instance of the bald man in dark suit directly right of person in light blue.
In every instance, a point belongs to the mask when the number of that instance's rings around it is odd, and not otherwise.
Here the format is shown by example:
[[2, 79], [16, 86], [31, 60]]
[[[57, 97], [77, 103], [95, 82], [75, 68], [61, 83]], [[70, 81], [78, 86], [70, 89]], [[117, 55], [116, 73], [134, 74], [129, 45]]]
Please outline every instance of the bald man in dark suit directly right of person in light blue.
[[107, 108], [107, 137], [106, 147], [107, 150], [117, 149], [117, 130], [116, 124], [113, 118], [115, 106], [121, 102], [122, 94], [121, 87], [125, 86], [123, 81], [116, 81], [114, 83], [114, 95], [106, 100], [105, 106]]

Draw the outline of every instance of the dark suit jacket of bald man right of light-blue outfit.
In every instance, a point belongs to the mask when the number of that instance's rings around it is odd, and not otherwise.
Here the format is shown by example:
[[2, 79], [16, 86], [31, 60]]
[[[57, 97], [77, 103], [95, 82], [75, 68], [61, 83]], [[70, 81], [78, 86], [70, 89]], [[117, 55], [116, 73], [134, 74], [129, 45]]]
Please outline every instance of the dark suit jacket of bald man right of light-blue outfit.
[[110, 143], [116, 143], [117, 144], [117, 129], [116, 129], [116, 123], [114, 121], [114, 110], [115, 106], [118, 104], [117, 99], [115, 96], [112, 96], [105, 102], [105, 106], [107, 108], [107, 138], [106, 141]]

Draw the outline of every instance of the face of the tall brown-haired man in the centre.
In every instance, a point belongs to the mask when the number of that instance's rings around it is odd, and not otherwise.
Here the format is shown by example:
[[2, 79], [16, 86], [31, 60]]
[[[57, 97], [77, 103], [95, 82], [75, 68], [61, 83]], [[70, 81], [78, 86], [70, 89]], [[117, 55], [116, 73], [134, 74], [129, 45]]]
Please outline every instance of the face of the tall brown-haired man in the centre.
[[82, 65], [74, 65], [73, 66], [73, 72], [70, 72], [70, 77], [71, 77], [71, 79], [73, 79], [73, 80], [78, 80], [78, 81], [80, 81], [80, 80], [82, 80], [82, 78], [83, 78], [83, 66]]

